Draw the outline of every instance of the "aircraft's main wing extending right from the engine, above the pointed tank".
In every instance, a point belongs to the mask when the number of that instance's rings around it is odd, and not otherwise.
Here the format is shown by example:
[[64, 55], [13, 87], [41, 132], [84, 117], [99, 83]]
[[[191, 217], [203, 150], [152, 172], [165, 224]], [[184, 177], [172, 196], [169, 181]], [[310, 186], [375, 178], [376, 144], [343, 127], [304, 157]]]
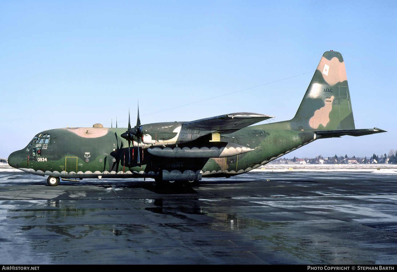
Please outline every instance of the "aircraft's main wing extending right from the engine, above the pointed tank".
[[212, 133], [229, 134], [273, 117], [274, 116], [251, 112], [237, 112], [186, 122], [182, 124], [182, 127], [187, 129], [211, 131]]

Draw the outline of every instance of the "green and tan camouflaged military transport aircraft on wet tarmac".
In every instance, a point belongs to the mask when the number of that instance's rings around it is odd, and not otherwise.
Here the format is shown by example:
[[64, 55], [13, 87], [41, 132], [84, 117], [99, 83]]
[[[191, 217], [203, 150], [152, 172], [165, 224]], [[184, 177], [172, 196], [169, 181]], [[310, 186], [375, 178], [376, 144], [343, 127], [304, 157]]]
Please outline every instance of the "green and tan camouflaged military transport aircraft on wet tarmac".
[[325, 52], [294, 118], [249, 126], [272, 118], [238, 112], [191, 122], [151, 123], [128, 128], [67, 127], [37, 134], [10, 154], [10, 166], [60, 179], [150, 177], [156, 183], [195, 184], [202, 177], [242, 174], [320, 138], [385, 132], [355, 129], [345, 64]]

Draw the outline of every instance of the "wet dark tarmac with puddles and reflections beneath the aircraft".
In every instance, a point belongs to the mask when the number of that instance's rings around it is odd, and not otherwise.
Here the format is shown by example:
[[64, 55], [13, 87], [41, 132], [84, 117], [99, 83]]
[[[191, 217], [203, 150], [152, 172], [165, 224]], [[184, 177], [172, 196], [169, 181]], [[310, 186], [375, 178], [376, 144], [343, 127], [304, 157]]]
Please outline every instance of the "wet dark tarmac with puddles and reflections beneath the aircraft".
[[[0, 173], [2, 264], [395, 264], [395, 174], [249, 172], [197, 187]], [[36, 181], [36, 182], [35, 182]]]

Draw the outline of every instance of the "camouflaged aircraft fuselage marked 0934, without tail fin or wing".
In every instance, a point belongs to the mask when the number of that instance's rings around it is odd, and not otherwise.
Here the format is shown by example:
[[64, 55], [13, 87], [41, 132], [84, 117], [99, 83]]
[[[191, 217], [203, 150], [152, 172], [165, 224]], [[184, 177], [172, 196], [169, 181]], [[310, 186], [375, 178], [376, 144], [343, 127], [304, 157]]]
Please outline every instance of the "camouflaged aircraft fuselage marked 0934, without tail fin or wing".
[[[207, 177], [233, 176], [266, 164], [315, 138], [313, 131], [266, 129], [270, 125], [275, 124], [257, 125], [220, 135], [222, 143], [234, 143], [252, 149], [250, 152], [221, 158], [163, 158], [150, 154], [148, 144], [138, 148], [135, 141], [128, 147], [128, 141], [119, 137], [125, 128], [103, 127], [42, 131], [25, 149], [14, 152], [10, 157], [18, 157], [19, 162], [15, 166], [25, 172], [69, 179], [156, 178], [163, 175], [163, 170], [166, 173], [192, 171]], [[186, 146], [194, 147], [195, 143], [179, 144], [181, 149]], [[175, 148], [176, 145], [170, 147]], [[137, 163], [137, 152], [140, 152], [140, 163]], [[11, 159], [10, 163], [14, 164], [14, 160]], [[197, 179], [199, 175], [187, 176], [187, 179], [189, 177]]]

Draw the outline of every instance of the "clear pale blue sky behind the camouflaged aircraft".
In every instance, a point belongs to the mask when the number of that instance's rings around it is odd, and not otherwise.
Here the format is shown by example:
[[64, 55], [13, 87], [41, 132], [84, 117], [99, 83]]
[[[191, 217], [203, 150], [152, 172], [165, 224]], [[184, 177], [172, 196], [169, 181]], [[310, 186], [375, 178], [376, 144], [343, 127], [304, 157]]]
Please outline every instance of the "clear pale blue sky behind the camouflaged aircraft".
[[395, 1], [1, 1], [0, 157], [45, 129], [116, 117], [126, 127], [138, 100], [142, 123], [289, 120], [328, 50], [343, 54], [356, 127], [388, 132], [287, 157], [387, 154], [397, 149], [396, 12]]

